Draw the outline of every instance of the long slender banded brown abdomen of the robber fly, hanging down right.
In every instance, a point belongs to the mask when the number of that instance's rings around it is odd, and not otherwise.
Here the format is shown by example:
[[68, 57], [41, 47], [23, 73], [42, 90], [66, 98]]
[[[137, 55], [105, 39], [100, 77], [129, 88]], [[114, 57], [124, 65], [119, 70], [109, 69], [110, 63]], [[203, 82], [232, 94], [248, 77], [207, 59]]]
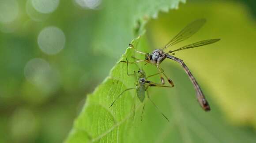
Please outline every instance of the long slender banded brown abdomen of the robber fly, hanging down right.
[[184, 68], [184, 71], [187, 73], [189, 79], [193, 83], [194, 88], [196, 89], [196, 97], [197, 97], [197, 100], [200, 103], [201, 107], [203, 107], [203, 110], [205, 110], [205, 111], [210, 111], [211, 110], [210, 105], [208, 104], [207, 100], [205, 99], [205, 97], [203, 95], [203, 91], [201, 90], [199, 84], [196, 82], [196, 79], [194, 78], [194, 76], [192, 75], [192, 73], [190, 72], [190, 70], [188, 69], [186, 64], [181, 59], [171, 56], [169, 54], [167, 54], [167, 57], [169, 59], [174, 60], [181, 64], [181, 66]]

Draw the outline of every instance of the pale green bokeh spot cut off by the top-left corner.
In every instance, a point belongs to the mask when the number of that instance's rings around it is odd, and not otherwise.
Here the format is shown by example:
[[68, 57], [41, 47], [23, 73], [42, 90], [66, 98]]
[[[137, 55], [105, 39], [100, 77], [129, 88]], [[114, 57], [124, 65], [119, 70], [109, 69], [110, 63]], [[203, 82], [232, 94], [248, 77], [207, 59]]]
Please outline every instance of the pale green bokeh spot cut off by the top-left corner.
[[14, 21], [19, 14], [19, 4], [16, 0], [0, 0], [0, 22]]

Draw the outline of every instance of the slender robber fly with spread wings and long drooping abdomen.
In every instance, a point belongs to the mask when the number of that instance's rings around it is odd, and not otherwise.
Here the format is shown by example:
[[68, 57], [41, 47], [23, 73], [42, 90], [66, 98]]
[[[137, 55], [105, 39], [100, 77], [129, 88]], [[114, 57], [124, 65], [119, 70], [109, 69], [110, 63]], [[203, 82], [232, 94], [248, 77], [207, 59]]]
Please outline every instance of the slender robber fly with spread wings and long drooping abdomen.
[[[135, 61], [133, 63], [138, 63], [138, 62], [141, 62], [141, 61], [145, 61], [147, 63], [155, 65], [156, 68], [158, 69], [158, 71], [160, 72], [160, 77], [161, 77], [162, 84], [165, 84], [164, 78], [162, 76], [162, 75], [164, 75], [165, 78], [168, 80], [169, 84], [171, 86], [174, 86], [172, 80], [166, 76], [166, 74], [163, 72], [162, 68], [160, 68], [159, 65], [166, 58], [169, 58], [173, 61], [178, 62], [184, 68], [184, 71], [187, 73], [189, 79], [191, 80], [192, 84], [194, 85], [194, 88], [196, 90], [196, 97], [197, 97], [197, 100], [200, 103], [201, 107], [203, 108], [204, 111], [210, 111], [211, 108], [210, 108], [207, 100], [205, 99], [199, 84], [196, 82], [196, 79], [194, 78], [194, 76], [192, 75], [192, 73], [190, 72], [190, 70], [188, 69], [186, 64], [181, 59], [179, 59], [177, 57], [174, 57], [170, 54], [174, 55], [173, 52], [177, 52], [179, 50], [185, 50], [185, 49], [190, 49], [190, 48], [194, 48], [194, 47], [198, 47], [198, 46], [203, 46], [203, 45], [208, 45], [208, 44], [211, 44], [211, 43], [215, 43], [215, 42], [219, 41], [220, 39], [207, 39], [207, 40], [199, 41], [199, 42], [192, 43], [192, 44], [189, 44], [189, 45], [186, 45], [186, 46], [182, 46], [182, 47], [180, 47], [176, 50], [169, 50], [166, 53], [163, 51], [163, 50], [166, 50], [167, 47], [173, 46], [173, 45], [191, 37], [193, 34], [195, 34], [203, 26], [203, 24], [205, 22], [206, 22], [205, 19], [198, 19], [196, 21], [193, 21], [192, 23], [188, 24], [184, 29], [182, 29], [181, 32], [179, 32], [173, 39], [171, 39], [168, 43], [166, 43], [165, 46], [163, 46], [162, 48], [153, 50], [152, 53], [144, 53], [144, 52], [140, 52], [138, 50], [135, 50], [137, 53], [145, 54], [145, 60], [137, 59], [138, 61]], [[130, 46], [133, 47], [131, 44], [130, 44]]]

